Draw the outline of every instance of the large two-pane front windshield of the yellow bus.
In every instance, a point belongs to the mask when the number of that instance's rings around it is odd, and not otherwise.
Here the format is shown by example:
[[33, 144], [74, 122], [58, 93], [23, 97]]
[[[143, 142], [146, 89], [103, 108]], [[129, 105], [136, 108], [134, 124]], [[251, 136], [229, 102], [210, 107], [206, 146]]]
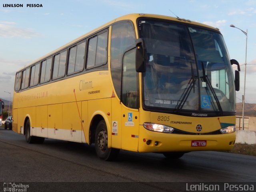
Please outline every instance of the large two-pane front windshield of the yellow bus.
[[213, 30], [143, 19], [145, 107], [234, 112], [234, 77], [222, 35]]

